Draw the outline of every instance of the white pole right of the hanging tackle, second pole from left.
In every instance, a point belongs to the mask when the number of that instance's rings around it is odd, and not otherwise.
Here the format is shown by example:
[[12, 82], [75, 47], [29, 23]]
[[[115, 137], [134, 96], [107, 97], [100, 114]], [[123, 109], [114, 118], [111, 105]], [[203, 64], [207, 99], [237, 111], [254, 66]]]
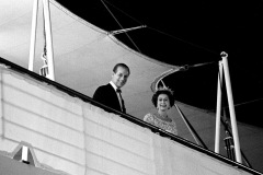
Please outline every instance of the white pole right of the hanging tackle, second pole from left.
[[44, 18], [45, 18], [46, 42], [47, 42], [46, 44], [47, 45], [47, 66], [48, 66], [47, 78], [55, 81], [49, 0], [43, 0], [43, 8], [44, 8]]

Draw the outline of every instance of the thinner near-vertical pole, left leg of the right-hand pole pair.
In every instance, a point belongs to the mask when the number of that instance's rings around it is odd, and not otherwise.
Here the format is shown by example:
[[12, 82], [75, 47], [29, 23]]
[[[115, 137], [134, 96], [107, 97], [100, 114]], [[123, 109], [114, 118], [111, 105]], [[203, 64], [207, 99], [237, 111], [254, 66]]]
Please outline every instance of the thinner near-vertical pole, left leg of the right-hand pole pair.
[[217, 110], [216, 110], [216, 136], [215, 136], [215, 152], [219, 153], [220, 140], [220, 117], [221, 117], [221, 85], [222, 84], [222, 65], [219, 61], [219, 72], [217, 82]]

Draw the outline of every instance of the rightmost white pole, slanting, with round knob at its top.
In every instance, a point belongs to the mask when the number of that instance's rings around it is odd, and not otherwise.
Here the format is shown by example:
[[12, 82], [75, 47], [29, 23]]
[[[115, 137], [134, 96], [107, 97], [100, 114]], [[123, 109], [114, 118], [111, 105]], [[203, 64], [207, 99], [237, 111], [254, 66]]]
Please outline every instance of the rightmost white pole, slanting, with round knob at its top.
[[221, 57], [222, 57], [224, 74], [225, 74], [226, 86], [227, 86], [227, 97], [228, 97], [228, 105], [230, 110], [230, 120], [231, 120], [232, 135], [233, 135], [236, 160], [237, 162], [242, 163], [238, 127], [237, 127], [236, 114], [233, 108], [232, 89], [230, 83], [230, 74], [229, 74], [228, 60], [227, 60], [228, 55], [225, 51], [222, 51]]

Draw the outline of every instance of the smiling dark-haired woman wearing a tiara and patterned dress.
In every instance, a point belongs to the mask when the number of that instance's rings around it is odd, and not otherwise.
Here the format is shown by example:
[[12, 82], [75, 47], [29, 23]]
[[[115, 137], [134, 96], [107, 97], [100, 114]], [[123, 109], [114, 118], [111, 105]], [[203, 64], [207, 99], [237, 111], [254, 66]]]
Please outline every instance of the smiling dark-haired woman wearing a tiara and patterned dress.
[[157, 108], [157, 113], [149, 113], [144, 117], [144, 121], [155, 125], [168, 132], [178, 135], [175, 121], [168, 116], [168, 110], [174, 105], [173, 92], [168, 88], [159, 89], [152, 96], [151, 102]]

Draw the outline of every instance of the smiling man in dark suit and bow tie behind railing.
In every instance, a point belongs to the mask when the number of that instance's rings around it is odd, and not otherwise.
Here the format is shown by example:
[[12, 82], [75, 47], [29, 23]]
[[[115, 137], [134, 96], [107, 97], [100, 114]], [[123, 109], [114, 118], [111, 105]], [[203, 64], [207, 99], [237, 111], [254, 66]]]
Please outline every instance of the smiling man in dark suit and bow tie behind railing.
[[111, 82], [99, 86], [94, 92], [93, 100], [111, 108], [126, 113], [121, 88], [126, 84], [129, 73], [129, 68], [125, 63], [117, 63], [113, 68]]

